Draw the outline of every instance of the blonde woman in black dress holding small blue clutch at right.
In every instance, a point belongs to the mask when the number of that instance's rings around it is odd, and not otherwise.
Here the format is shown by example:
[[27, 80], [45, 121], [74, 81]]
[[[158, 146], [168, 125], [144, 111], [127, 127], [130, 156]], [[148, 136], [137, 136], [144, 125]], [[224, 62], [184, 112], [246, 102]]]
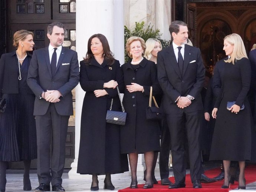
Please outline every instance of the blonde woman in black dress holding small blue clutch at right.
[[[245, 189], [245, 160], [251, 159], [252, 148], [252, 115], [247, 99], [251, 78], [250, 62], [238, 34], [233, 33], [224, 38], [223, 50], [229, 59], [223, 60], [223, 84], [212, 112], [213, 118], [217, 118], [210, 160], [223, 160], [225, 176], [221, 188], [229, 188], [230, 161], [238, 161], [238, 189]], [[227, 102], [235, 102], [229, 110]]]

